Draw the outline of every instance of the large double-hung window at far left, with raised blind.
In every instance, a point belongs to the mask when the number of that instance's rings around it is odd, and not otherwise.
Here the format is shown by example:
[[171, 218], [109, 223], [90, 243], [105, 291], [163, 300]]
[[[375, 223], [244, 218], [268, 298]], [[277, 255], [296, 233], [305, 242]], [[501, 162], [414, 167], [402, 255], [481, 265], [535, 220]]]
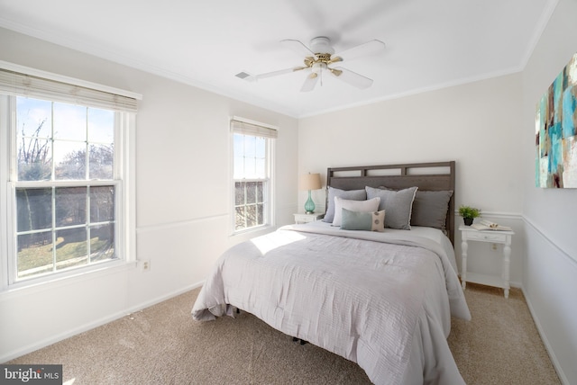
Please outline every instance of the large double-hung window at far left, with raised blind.
[[130, 260], [135, 100], [62, 86], [0, 69], [8, 285]]

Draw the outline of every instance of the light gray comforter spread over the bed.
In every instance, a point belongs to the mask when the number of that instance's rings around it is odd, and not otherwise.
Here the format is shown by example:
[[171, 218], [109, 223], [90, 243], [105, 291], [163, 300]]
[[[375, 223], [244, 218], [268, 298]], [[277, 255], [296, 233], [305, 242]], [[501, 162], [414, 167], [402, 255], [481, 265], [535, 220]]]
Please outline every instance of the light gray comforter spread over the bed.
[[222, 255], [192, 309], [239, 308], [358, 363], [377, 384], [464, 383], [446, 337], [471, 318], [444, 248], [411, 231], [293, 225]]

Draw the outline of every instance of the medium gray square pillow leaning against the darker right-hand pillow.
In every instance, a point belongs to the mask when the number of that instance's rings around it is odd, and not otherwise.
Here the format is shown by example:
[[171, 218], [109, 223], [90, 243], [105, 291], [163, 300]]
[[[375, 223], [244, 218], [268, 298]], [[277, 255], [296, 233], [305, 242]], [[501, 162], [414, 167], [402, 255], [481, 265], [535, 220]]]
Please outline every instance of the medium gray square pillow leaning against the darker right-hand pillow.
[[385, 210], [385, 228], [411, 229], [411, 211], [417, 187], [404, 190], [383, 190], [366, 186], [367, 199], [380, 197], [379, 210]]

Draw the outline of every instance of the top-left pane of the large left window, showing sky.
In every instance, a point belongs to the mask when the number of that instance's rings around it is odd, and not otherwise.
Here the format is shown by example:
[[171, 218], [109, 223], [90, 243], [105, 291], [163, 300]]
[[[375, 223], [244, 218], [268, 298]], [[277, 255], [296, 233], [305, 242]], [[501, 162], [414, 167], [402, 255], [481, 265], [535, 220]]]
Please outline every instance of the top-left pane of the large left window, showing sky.
[[51, 138], [52, 103], [18, 96], [16, 98], [16, 131], [18, 136]]

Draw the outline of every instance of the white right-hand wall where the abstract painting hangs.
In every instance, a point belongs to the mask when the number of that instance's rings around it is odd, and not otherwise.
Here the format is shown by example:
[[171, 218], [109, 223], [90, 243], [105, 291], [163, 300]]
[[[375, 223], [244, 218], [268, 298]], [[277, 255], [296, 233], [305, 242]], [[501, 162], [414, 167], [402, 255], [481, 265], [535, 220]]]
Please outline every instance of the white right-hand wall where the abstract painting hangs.
[[577, 52], [577, 1], [561, 0], [523, 71], [523, 289], [564, 383], [577, 383], [577, 189], [535, 187], [536, 104]]

